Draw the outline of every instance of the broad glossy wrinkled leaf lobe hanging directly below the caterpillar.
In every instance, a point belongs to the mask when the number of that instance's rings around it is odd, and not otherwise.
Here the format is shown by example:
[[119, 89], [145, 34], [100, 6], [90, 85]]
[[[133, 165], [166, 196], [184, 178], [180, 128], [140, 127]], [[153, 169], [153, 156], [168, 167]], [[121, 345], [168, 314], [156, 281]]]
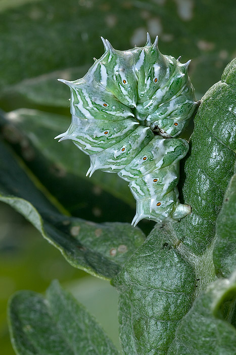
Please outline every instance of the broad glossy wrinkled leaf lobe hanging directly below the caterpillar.
[[125, 355], [164, 355], [182, 316], [195, 297], [191, 263], [178, 252], [181, 242], [159, 235], [146, 242], [112, 279], [119, 292], [120, 339]]

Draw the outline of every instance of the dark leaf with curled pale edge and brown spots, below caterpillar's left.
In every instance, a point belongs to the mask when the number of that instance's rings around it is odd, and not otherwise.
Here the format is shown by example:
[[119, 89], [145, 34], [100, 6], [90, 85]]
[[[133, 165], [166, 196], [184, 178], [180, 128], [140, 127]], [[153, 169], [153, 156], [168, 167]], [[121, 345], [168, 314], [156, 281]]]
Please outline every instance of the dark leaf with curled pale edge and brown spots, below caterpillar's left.
[[[28, 219], [74, 267], [110, 279], [129, 259], [144, 234], [129, 224], [96, 224], [63, 215], [63, 207], [0, 141], [0, 201]], [[23, 167], [23, 168], [22, 168]]]

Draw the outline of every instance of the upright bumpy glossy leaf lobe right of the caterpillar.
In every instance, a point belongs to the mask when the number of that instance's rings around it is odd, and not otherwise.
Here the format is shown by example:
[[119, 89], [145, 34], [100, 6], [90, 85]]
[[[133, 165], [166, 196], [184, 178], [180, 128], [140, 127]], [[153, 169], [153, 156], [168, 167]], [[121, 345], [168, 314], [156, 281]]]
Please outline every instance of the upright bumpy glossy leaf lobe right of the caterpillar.
[[[235, 75], [236, 58], [229, 68]], [[180, 201], [192, 206], [192, 214], [165, 227], [199, 256], [214, 242], [216, 218], [236, 158], [236, 87], [223, 79], [202, 98], [190, 140], [191, 152], [180, 171]]]

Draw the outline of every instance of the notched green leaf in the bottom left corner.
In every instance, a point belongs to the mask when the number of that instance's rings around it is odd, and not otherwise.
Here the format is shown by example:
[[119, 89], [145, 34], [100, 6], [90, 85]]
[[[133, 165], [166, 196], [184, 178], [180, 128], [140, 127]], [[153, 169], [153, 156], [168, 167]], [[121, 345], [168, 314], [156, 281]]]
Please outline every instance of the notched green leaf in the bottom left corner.
[[19, 355], [118, 355], [87, 310], [52, 282], [46, 297], [16, 293], [9, 305], [13, 347]]

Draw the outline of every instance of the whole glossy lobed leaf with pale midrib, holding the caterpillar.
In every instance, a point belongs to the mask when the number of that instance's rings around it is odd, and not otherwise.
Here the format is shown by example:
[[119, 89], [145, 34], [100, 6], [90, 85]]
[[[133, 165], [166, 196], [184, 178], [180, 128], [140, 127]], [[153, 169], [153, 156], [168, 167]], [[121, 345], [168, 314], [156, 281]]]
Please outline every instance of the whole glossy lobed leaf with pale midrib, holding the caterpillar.
[[167, 354], [178, 322], [216, 278], [215, 222], [235, 161], [236, 91], [230, 78], [236, 60], [226, 71], [227, 83], [224, 73], [203, 97], [192, 149], [182, 164], [180, 198], [191, 204], [192, 214], [154, 229], [113, 281], [120, 294], [125, 354]]

